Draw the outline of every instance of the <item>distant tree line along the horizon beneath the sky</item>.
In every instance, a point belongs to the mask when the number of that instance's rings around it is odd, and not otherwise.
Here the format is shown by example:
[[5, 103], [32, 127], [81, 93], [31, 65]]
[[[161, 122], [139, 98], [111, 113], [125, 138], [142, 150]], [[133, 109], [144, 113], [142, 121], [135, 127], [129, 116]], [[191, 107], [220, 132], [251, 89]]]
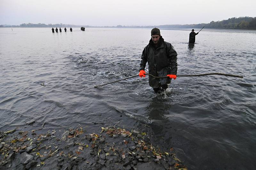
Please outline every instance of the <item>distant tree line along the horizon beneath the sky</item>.
[[215, 29], [256, 29], [256, 17], [239, 17], [228, 18], [222, 21], [212, 21], [208, 24], [186, 24], [186, 25], [148, 25], [148, 26], [90, 26], [90, 25], [70, 25], [70, 24], [20, 24], [20, 25], [0, 25], [0, 27], [103, 27], [103, 28], [215, 28]]

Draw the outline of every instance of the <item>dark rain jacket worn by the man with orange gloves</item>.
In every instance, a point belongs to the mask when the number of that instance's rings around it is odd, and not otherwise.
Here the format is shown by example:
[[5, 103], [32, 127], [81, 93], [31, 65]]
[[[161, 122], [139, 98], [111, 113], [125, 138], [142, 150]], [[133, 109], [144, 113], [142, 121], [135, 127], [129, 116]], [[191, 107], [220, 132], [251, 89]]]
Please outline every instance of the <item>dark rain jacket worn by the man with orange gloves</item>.
[[[154, 45], [152, 39], [144, 48], [141, 61], [140, 70], [144, 70], [148, 62], [148, 73], [154, 76], [166, 76], [167, 74], [177, 74], [177, 53], [172, 44], [165, 42], [160, 36], [157, 46]], [[160, 85], [170, 84], [170, 78], [154, 78], [149, 76], [149, 86], [158, 88]]]

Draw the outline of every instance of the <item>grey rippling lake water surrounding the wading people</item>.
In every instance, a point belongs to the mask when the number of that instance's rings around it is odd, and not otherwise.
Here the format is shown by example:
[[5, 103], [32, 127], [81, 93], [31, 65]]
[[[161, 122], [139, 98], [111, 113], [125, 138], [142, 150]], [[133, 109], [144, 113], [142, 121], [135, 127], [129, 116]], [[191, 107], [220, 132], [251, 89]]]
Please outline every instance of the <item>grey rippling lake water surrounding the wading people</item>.
[[[155, 95], [138, 74], [151, 29], [0, 28], [0, 130], [147, 124], [152, 141], [180, 151], [189, 169], [255, 169], [256, 31], [161, 30], [178, 53], [179, 77]], [[199, 30], [197, 30], [199, 31]], [[196, 32], [197, 32], [196, 31]], [[40, 84], [45, 82], [45, 86]]]

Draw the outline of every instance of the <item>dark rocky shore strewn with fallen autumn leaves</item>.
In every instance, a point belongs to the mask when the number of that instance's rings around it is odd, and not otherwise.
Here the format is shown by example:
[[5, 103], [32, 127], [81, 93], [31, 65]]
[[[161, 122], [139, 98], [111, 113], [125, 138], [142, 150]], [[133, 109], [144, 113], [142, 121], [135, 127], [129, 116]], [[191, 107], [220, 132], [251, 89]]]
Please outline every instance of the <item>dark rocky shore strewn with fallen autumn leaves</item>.
[[161, 151], [148, 142], [146, 132], [102, 127], [97, 134], [80, 126], [58, 134], [42, 129], [0, 131], [0, 170], [187, 170], [175, 149]]

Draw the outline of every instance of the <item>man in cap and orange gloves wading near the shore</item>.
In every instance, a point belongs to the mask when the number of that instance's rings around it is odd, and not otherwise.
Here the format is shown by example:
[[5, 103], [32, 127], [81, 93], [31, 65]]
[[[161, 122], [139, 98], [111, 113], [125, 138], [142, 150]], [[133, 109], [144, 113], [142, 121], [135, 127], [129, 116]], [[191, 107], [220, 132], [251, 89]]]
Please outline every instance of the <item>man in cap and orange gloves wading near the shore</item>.
[[145, 77], [145, 67], [148, 62], [148, 74], [165, 76], [164, 78], [148, 77], [149, 86], [155, 93], [165, 91], [171, 79], [176, 79], [178, 64], [177, 53], [171, 43], [164, 41], [158, 28], [151, 30], [151, 39], [144, 48], [140, 61], [140, 77]]

